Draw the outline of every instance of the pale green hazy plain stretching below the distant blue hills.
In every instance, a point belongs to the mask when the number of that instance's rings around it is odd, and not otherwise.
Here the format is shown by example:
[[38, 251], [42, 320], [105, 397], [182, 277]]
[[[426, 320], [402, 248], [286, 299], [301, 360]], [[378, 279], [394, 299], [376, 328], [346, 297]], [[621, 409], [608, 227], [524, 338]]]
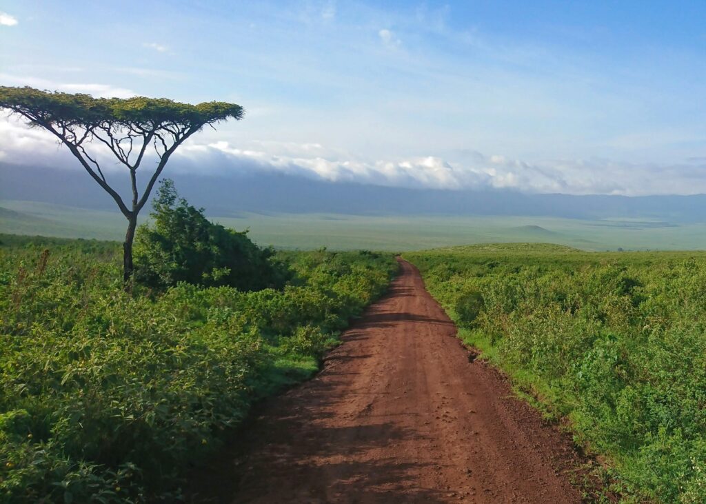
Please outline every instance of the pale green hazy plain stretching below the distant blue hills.
[[[307, 250], [367, 248], [411, 251], [496, 242], [553, 243], [589, 251], [706, 249], [706, 224], [657, 220], [575, 220], [555, 217], [458, 217], [337, 214], [254, 214], [210, 218], [251, 229], [261, 245]], [[126, 222], [116, 212], [0, 200], [0, 232], [119, 240]]]

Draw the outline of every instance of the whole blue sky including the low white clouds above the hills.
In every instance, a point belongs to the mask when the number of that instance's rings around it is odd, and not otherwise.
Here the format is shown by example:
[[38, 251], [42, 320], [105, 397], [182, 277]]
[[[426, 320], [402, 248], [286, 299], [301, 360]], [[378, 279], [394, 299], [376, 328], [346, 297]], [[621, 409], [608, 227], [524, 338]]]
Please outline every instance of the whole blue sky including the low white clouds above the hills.
[[[182, 169], [706, 192], [704, 1], [6, 0], [0, 11], [5, 85], [243, 105], [244, 121], [192, 140]], [[60, 156], [3, 122], [0, 159]]]

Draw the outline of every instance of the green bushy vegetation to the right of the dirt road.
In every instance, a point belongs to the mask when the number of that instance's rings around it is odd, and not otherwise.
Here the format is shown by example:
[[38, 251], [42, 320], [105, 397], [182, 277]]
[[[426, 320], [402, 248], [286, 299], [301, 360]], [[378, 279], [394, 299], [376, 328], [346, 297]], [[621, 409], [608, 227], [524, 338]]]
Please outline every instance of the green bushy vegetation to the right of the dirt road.
[[460, 327], [628, 500], [706, 502], [706, 253], [546, 244], [405, 254]]

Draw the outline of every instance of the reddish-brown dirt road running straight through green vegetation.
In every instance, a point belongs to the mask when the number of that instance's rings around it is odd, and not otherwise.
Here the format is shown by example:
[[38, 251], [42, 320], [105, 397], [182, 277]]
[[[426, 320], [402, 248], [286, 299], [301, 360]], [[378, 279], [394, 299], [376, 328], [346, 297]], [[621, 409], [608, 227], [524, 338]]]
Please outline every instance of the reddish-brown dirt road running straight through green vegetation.
[[573, 451], [402, 262], [316, 378], [270, 400], [194, 502], [575, 503]]

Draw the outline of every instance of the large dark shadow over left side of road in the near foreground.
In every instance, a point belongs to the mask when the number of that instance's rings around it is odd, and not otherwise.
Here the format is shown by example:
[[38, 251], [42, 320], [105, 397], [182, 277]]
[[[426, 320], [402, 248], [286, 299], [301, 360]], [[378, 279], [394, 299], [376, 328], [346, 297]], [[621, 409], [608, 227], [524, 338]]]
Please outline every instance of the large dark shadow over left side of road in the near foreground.
[[375, 457], [377, 448], [419, 440], [418, 432], [390, 422], [325, 425], [336, 403], [349, 400], [335, 395], [345, 377], [334, 376], [256, 408], [217, 459], [194, 469], [186, 502], [271, 503], [285, 493], [291, 503], [390, 503], [402, 491], [405, 502], [447, 502], [439, 491], [419, 488], [427, 464]]

